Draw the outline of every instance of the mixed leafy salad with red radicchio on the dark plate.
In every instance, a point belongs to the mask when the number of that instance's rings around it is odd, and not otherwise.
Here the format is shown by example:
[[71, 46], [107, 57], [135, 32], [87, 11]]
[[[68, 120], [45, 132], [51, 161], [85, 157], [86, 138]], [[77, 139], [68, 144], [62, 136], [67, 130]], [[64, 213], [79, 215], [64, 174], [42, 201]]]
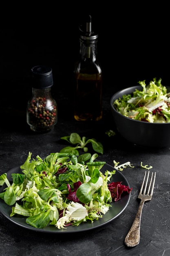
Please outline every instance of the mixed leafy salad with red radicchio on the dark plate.
[[7, 185], [0, 193], [1, 200], [11, 206], [10, 216], [26, 216], [26, 223], [35, 228], [55, 225], [62, 229], [69, 225], [102, 218], [110, 202], [120, 200], [123, 192], [132, 188], [110, 182], [115, 170], [100, 170], [106, 162], [96, 161], [97, 153], [70, 155], [51, 153], [42, 159], [39, 155], [20, 166], [20, 173], [0, 176], [0, 185]]

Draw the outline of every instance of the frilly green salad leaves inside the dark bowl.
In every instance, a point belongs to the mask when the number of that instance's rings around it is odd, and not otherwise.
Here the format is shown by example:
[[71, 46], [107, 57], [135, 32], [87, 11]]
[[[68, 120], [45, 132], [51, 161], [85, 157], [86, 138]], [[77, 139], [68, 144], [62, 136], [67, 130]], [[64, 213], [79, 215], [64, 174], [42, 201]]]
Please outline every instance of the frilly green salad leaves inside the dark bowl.
[[170, 92], [156, 78], [146, 85], [138, 82], [142, 90], [135, 89], [132, 94], [124, 94], [113, 103], [115, 109], [131, 119], [150, 123], [170, 122]]

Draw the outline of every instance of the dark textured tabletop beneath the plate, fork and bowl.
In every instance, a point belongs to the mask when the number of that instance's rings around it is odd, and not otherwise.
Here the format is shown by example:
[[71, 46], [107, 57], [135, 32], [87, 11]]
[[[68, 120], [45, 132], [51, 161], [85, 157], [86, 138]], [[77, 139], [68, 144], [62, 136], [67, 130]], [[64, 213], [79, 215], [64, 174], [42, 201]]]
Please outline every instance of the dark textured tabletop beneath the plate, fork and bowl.
[[[126, 209], [110, 223], [72, 234], [46, 234], [28, 230], [8, 220], [0, 213], [1, 255], [163, 255], [170, 254], [170, 148], [144, 148], [131, 145], [116, 132], [113, 137], [107, 130], [115, 130], [110, 111], [110, 94], [103, 95], [104, 115], [97, 123], [77, 122], [69, 112], [71, 100], [57, 97], [58, 123], [53, 131], [44, 134], [31, 132], [26, 124], [25, 108], [2, 106], [0, 132], [0, 174], [22, 164], [31, 151], [33, 157], [59, 152], [68, 145], [62, 136], [77, 132], [81, 137], [96, 138], [104, 146], [98, 159], [114, 166], [113, 160], [130, 161], [135, 168], [125, 168], [122, 174], [132, 187]], [[63, 106], [64, 99], [64, 108]], [[12, 101], [11, 101], [12, 102]], [[17, 105], [17, 104], [16, 104]], [[8, 118], [6, 118], [8, 117]], [[156, 172], [152, 200], [145, 202], [141, 218], [141, 238], [136, 247], [127, 248], [124, 238], [135, 218], [139, 201], [137, 196], [144, 177], [140, 163], [151, 165]], [[76, 228], [76, 227], [75, 227]]]

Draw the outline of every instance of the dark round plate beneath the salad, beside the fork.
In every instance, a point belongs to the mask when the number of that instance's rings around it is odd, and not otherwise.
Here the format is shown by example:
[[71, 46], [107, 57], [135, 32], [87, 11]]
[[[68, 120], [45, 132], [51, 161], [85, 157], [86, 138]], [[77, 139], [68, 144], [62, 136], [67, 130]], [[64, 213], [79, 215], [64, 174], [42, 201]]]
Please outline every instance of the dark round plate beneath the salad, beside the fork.
[[[109, 164], [105, 164], [104, 167], [101, 169], [102, 173], [105, 173], [106, 170], [113, 171], [113, 166]], [[7, 172], [7, 177], [9, 181], [12, 181], [11, 173], [21, 173], [20, 167], [14, 167], [9, 172]], [[124, 177], [123, 174], [121, 174], [120, 171], [116, 171], [116, 173], [112, 176], [110, 179], [110, 182], [117, 182], [122, 181], [122, 184], [129, 186], [128, 181]], [[6, 187], [6, 185], [2, 186], [0, 188], [0, 193], [2, 190]], [[16, 225], [19, 225], [20, 227], [24, 227], [26, 229], [31, 229], [33, 231], [39, 231], [44, 233], [74, 233], [74, 232], [80, 232], [80, 231], [87, 231], [90, 229], [95, 229], [97, 227], [101, 227], [110, 221], [117, 218], [127, 207], [128, 202], [130, 200], [130, 193], [123, 193], [121, 195], [121, 199], [117, 202], [111, 202], [112, 207], [108, 210], [106, 214], [103, 215], [102, 218], [99, 218], [99, 220], [95, 220], [93, 223], [91, 222], [83, 222], [78, 227], [68, 226], [66, 229], [57, 229], [54, 225], [48, 225], [44, 227], [43, 229], [37, 229], [35, 227], [32, 227], [28, 224], [26, 224], [26, 217], [15, 214], [15, 216], [10, 217], [11, 214], [11, 206], [7, 205], [2, 199], [0, 199], [0, 211], [2, 214], [15, 223]]]

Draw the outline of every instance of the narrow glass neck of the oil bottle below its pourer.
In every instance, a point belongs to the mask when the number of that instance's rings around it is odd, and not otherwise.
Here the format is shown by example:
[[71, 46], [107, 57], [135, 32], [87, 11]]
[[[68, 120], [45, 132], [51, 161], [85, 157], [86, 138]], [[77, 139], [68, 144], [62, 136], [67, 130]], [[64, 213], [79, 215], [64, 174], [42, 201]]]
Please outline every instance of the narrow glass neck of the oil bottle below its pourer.
[[97, 40], [83, 40], [80, 38], [80, 56], [84, 61], [96, 61]]

